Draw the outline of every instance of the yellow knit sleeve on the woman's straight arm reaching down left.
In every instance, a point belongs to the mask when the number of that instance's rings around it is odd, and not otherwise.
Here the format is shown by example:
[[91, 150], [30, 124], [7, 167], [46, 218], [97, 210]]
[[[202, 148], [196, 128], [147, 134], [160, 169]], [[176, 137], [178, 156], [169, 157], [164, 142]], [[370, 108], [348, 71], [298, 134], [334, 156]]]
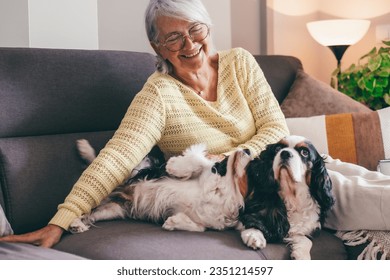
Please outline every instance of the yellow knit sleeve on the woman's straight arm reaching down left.
[[158, 90], [146, 83], [129, 106], [112, 139], [83, 172], [50, 224], [68, 229], [74, 218], [89, 213], [129, 176], [159, 141], [164, 128], [164, 104]]

